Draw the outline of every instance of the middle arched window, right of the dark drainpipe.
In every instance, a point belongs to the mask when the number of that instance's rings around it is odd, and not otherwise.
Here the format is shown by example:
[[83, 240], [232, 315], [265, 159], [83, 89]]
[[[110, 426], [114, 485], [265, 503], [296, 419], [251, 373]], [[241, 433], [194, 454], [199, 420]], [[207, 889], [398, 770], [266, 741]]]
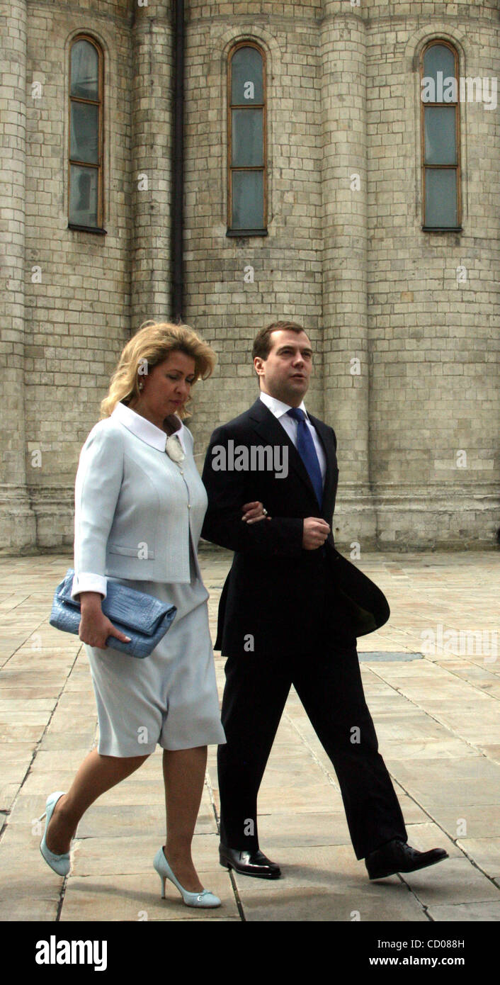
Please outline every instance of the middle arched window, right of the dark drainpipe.
[[227, 106], [227, 235], [266, 235], [265, 59], [251, 41], [230, 52]]

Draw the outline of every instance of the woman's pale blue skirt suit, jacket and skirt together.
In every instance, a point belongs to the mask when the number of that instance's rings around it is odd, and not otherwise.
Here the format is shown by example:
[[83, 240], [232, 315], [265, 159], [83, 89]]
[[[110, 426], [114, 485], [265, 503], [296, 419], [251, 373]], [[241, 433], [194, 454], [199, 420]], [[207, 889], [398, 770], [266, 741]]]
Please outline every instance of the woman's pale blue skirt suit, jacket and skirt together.
[[225, 742], [209, 596], [196, 555], [207, 493], [193, 436], [179, 424], [174, 444], [184, 458], [175, 461], [165, 451], [165, 432], [118, 403], [93, 427], [80, 456], [73, 596], [105, 596], [112, 579], [177, 607], [168, 632], [144, 660], [86, 644], [102, 755]]

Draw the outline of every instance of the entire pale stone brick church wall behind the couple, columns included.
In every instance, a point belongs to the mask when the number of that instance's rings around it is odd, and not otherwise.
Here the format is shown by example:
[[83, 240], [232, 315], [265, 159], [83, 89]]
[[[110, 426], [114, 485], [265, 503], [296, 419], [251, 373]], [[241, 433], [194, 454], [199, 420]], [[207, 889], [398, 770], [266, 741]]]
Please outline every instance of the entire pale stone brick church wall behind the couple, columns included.
[[[104, 52], [105, 236], [67, 228], [79, 32]], [[78, 455], [117, 356], [171, 315], [172, 33], [170, 0], [0, 14], [0, 551], [71, 545]], [[443, 36], [461, 74], [498, 77], [498, 4], [190, 0], [186, 36], [184, 319], [219, 357], [194, 392], [200, 466], [258, 395], [255, 333], [293, 318], [316, 351], [307, 406], [338, 435], [338, 543], [493, 546], [499, 112], [462, 105], [463, 231], [423, 232], [418, 57]], [[266, 57], [269, 234], [228, 237], [227, 57], [244, 38]]]

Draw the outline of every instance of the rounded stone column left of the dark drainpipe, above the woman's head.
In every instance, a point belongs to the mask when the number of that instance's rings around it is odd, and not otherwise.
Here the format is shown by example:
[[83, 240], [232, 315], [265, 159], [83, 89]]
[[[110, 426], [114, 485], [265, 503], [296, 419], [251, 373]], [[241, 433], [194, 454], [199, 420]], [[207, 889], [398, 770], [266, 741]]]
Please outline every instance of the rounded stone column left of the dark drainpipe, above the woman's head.
[[172, 25], [167, 0], [134, 0], [131, 328], [170, 317]]

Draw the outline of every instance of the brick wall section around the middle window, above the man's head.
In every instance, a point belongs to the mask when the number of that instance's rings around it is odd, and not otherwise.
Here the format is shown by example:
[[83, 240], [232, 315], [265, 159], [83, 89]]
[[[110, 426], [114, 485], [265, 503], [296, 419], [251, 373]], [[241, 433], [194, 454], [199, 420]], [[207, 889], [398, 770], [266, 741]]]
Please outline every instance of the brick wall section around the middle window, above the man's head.
[[[262, 10], [261, 10], [262, 8]], [[276, 8], [276, 10], [275, 10]], [[213, 378], [194, 394], [201, 461], [217, 424], [258, 396], [257, 331], [293, 318], [317, 350], [311, 410], [322, 414], [321, 104], [318, 5], [189, 4], [186, 104], [185, 318], [214, 345]], [[257, 41], [266, 59], [267, 236], [226, 236], [226, 78], [231, 47]], [[253, 283], [244, 281], [253, 268]]]

